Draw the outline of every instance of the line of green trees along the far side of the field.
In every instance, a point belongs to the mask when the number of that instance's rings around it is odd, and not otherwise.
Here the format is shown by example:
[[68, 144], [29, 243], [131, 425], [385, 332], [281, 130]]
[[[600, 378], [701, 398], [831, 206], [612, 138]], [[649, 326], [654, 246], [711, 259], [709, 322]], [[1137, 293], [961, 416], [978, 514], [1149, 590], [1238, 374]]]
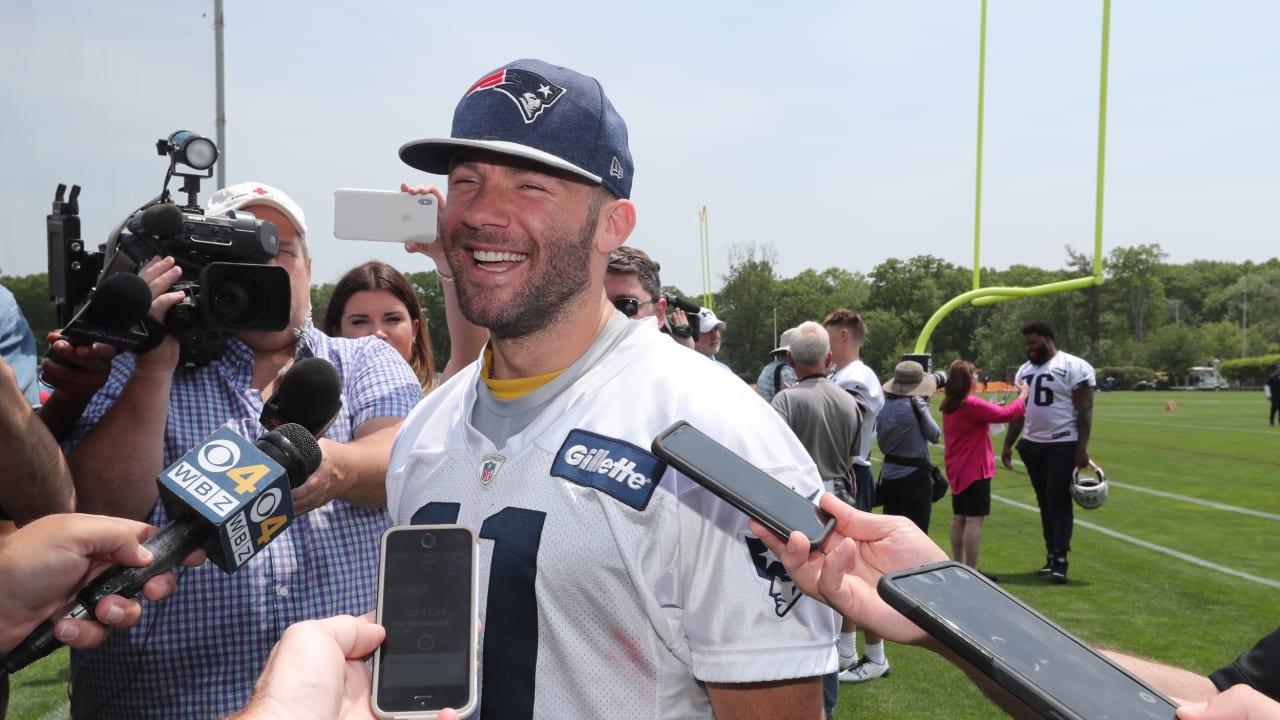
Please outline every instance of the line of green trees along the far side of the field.
[[[730, 269], [712, 306], [728, 328], [718, 357], [750, 380], [768, 361], [777, 334], [804, 320], [818, 320], [847, 307], [861, 313], [868, 334], [863, 360], [878, 375], [892, 374], [902, 354], [914, 351], [924, 324], [945, 302], [973, 290], [973, 269], [929, 255], [890, 259], [868, 272], [832, 266], [778, 275], [772, 246], [732, 246]], [[1094, 368], [1116, 369], [1129, 382], [1143, 374], [1167, 373], [1181, 384], [1187, 369], [1280, 354], [1280, 260], [1166, 263], [1158, 243], [1116, 247], [1103, 259], [1105, 282], [1083, 291], [966, 305], [947, 315], [929, 338], [934, 369], [963, 357], [1004, 379], [1024, 360], [1020, 329], [1043, 320], [1053, 327], [1057, 346], [1089, 360]], [[982, 268], [982, 287], [1032, 287], [1087, 277], [1093, 258], [1066, 249], [1062, 265], [1047, 270], [1012, 265]], [[444, 296], [435, 272], [406, 273], [428, 320], [436, 366], [449, 357]], [[45, 273], [5, 277], [8, 287], [36, 332], [41, 354], [45, 334], [56, 327]], [[678, 287], [667, 292], [696, 300]], [[332, 284], [311, 288], [314, 314], [324, 316]], [[1233, 379], [1261, 383], [1270, 361], [1239, 364]], [[1254, 374], [1261, 373], [1257, 378]]]

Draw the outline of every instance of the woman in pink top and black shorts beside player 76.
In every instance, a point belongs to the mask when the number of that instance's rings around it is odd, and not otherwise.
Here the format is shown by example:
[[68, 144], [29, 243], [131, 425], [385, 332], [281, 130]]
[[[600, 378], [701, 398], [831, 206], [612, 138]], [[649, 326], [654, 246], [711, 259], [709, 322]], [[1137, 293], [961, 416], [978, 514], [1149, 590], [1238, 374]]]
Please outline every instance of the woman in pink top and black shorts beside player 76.
[[1001, 407], [970, 395], [977, 384], [973, 363], [956, 360], [947, 369], [942, 400], [943, 460], [951, 483], [951, 557], [978, 568], [982, 521], [991, 515], [991, 479], [996, 456], [991, 451], [991, 425], [1007, 423], [1027, 411], [1028, 386], [1018, 383], [1018, 398]]

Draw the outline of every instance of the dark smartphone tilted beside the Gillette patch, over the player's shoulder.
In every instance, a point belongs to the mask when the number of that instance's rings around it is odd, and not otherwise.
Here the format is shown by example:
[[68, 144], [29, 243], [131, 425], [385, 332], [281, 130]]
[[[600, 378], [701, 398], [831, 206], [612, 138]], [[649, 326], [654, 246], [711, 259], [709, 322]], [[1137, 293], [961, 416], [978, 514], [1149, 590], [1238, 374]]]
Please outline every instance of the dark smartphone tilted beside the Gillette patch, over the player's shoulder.
[[783, 539], [800, 530], [818, 547], [836, 527], [817, 505], [685, 420], [653, 438], [653, 454]]

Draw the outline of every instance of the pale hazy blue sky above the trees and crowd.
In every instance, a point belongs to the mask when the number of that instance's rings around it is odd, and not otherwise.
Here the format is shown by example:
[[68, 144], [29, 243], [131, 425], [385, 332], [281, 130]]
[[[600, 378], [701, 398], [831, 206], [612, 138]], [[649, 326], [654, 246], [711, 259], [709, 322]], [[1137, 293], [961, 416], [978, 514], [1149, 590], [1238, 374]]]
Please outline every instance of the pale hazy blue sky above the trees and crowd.
[[[703, 205], [713, 290], [735, 243], [772, 245], [785, 277], [922, 254], [972, 266], [980, 6], [225, 0], [227, 177], [306, 209], [315, 282], [371, 258], [430, 269], [334, 240], [333, 191], [431, 181], [397, 149], [447, 135], [476, 78], [536, 56], [598, 77], [626, 118], [631, 243], [666, 283], [701, 291]], [[989, 3], [984, 266], [1092, 249], [1101, 18], [1101, 0]], [[1116, 0], [1105, 251], [1277, 255], [1277, 26], [1266, 0]], [[58, 182], [83, 186], [96, 245], [160, 191], [159, 137], [214, 135], [211, 0], [6, 1], [0, 63], [0, 274], [46, 268]]]

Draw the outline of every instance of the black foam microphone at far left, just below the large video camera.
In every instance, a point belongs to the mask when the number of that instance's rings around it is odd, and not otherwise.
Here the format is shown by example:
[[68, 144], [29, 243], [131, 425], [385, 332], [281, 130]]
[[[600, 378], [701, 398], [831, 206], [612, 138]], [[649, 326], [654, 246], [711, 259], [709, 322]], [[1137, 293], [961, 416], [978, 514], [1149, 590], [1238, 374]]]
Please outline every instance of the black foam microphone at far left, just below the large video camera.
[[[63, 328], [60, 337], [72, 345], [102, 342], [118, 351], [136, 352], [151, 341], [142, 320], [151, 310], [151, 287], [132, 273], [109, 275], [93, 288], [81, 311]], [[64, 363], [55, 352], [46, 357]]]

